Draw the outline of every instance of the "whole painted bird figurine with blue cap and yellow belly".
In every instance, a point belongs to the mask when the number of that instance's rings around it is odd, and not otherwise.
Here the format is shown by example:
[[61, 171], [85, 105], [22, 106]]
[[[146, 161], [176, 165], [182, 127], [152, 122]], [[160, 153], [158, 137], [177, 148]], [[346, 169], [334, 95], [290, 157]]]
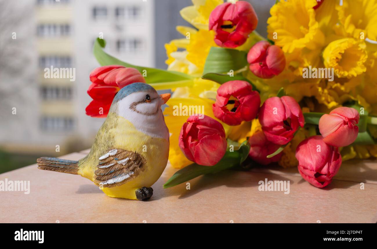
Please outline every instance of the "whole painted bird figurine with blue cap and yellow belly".
[[161, 110], [169, 98], [145, 83], [127, 85], [114, 97], [86, 157], [42, 157], [38, 169], [81, 175], [110, 197], [150, 199], [169, 156], [169, 130]]

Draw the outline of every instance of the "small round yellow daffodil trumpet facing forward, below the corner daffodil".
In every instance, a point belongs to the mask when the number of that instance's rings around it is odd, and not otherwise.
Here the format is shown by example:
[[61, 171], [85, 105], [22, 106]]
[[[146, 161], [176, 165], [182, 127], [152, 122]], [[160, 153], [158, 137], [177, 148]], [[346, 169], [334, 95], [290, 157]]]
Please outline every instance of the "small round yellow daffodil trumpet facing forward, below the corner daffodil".
[[326, 68], [334, 68], [337, 77], [356, 77], [366, 71], [364, 65], [368, 55], [365, 43], [354, 38], [343, 38], [331, 42], [323, 51]]

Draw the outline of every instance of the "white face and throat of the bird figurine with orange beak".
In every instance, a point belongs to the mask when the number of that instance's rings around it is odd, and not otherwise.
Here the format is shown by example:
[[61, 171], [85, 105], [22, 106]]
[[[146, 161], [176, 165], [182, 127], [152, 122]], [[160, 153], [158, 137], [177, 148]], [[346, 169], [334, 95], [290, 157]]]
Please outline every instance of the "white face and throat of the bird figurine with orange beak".
[[136, 129], [152, 137], [169, 138], [161, 106], [170, 94], [159, 95], [155, 90], [131, 93], [118, 102], [118, 115], [129, 120]]

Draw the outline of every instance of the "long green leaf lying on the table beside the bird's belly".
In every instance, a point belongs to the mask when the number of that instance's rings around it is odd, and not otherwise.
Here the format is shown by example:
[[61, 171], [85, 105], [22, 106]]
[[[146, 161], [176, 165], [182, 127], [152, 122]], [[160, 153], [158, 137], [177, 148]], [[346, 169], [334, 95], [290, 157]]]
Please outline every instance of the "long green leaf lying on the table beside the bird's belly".
[[175, 174], [167, 180], [164, 184], [164, 188], [174, 187], [178, 184], [187, 182], [201, 175], [215, 174], [226, 169], [240, 165], [247, 158], [250, 150], [250, 144], [248, 141], [244, 141], [238, 150], [230, 152], [227, 150], [223, 158], [213, 166], [202, 166], [196, 163], [190, 164], [181, 170], [175, 172]]

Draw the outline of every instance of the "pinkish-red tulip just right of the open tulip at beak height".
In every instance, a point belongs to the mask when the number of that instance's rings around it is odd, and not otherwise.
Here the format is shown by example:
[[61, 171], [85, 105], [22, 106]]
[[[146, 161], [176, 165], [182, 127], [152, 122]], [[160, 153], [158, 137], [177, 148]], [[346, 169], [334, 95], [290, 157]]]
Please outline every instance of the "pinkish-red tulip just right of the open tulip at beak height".
[[299, 104], [290, 96], [271, 97], [259, 109], [259, 122], [268, 141], [287, 144], [299, 126], [304, 126], [304, 117]]

